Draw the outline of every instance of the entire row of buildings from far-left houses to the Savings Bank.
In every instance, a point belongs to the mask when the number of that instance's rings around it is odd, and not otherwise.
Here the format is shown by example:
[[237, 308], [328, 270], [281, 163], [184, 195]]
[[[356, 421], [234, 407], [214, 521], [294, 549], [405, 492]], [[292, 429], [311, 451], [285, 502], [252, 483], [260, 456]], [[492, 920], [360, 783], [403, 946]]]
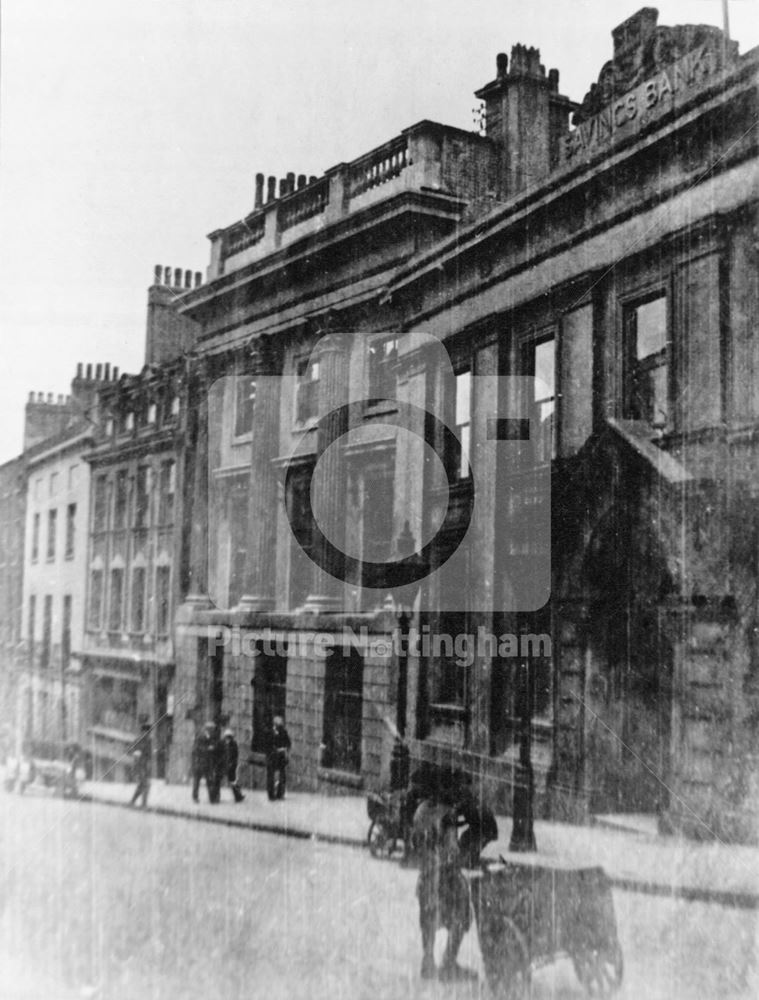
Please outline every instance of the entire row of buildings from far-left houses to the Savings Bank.
[[257, 175], [205, 276], [156, 269], [138, 375], [34, 395], [17, 733], [118, 776], [147, 719], [184, 781], [224, 720], [255, 787], [283, 714], [302, 788], [410, 758], [759, 838], [759, 51], [612, 40], [580, 102], [515, 45], [480, 132]]

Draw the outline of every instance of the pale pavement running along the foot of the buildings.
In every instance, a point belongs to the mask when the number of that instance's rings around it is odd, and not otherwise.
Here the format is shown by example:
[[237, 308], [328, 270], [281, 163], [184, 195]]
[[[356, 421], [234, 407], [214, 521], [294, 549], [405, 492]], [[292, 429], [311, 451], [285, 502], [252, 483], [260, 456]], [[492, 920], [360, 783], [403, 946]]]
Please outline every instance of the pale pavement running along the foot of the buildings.
[[[91, 781], [81, 786], [81, 794], [93, 802], [128, 807], [133, 788]], [[224, 788], [217, 805], [204, 796], [202, 788], [196, 805], [189, 785], [154, 780], [148, 810], [349, 847], [366, 846], [369, 819], [364, 796], [288, 789], [284, 800], [270, 802], [265, 792], [246, 790], [245, 800], [234, 803], [232, 793]], [[498, 829], [499, 838], [485, 855], [508, 858], [511, 819], [499, 816]], [[608, 817], [590, 826], [537, 820], [535, 838], [536, 854], [511, 854], [511, 858], [561, 867], [600, 865], [619, 889], [759, 909], [759, 847], [694, 842], [658, 834], [651, 823], [628, 826]]]

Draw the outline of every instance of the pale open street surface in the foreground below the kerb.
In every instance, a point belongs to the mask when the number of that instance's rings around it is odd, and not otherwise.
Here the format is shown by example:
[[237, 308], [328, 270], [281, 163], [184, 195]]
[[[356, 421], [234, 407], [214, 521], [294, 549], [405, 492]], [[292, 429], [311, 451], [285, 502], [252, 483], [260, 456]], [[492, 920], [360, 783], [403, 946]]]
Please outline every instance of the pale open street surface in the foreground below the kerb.
[[[355, 848], [0, 792], [0, 998], [487, 997], [420, 980], [415, 880]], [[614, 901], [620, 1000], [759, 995], [753, 912]], [[481, 969], [476, 932], [460, 958]], [[584, 996], [567, 960], [532, 995]]]

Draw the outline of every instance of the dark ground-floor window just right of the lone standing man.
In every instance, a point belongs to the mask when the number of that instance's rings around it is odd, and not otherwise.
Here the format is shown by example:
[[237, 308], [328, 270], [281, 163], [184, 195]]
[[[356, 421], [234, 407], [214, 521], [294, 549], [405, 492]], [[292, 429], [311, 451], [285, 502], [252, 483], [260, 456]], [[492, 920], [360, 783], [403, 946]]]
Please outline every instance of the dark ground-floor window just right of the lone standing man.
[[361, 771], [361, 715], [364, 661], [355, 649], [335, 649], [324, 673], [322, 765], [338, 771]]

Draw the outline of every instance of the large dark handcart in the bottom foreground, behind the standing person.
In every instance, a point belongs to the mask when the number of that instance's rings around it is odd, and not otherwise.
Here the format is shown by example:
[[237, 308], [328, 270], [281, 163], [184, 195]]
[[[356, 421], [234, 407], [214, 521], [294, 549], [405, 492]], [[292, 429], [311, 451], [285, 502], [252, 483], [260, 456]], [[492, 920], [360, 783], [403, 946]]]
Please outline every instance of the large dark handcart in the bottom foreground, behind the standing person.
[[622, 983], [611, 884], [602, 868], [541, 858], [488, 863], [468, 873], [485, 975], [494, 998], [529, 995], [533, 970], [562, 955], [590, 996]]

